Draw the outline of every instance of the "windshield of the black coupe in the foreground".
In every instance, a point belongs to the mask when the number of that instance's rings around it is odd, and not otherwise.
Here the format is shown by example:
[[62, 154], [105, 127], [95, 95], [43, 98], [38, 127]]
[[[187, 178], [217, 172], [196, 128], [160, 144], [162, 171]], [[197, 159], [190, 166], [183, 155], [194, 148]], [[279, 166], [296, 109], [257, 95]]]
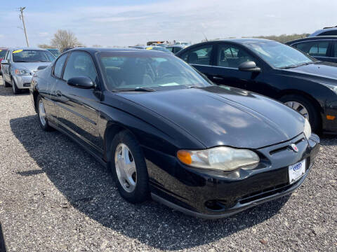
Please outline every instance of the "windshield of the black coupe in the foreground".
[[109, 90], [213, 85], [183, 60], [164, 53], [102, 52], [99, 57]]

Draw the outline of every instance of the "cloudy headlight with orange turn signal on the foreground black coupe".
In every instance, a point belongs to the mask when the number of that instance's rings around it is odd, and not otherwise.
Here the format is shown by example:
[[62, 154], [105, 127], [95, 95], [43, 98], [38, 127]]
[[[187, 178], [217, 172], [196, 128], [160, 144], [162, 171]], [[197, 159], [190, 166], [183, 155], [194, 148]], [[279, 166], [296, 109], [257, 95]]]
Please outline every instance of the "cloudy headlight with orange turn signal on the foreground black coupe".
[[240, 167], [251, 168], [260, 162], [253, 151], [230, 147], [215, 147], [200, 151], [180, 150], [178, 159], [192, 167], [230, 172]]

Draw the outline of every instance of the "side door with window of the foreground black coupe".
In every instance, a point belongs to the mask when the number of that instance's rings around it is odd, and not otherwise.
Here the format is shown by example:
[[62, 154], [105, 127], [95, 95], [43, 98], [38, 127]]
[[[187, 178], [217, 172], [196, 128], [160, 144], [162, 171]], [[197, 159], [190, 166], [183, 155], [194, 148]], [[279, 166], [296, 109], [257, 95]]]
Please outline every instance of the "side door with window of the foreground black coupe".
[[[95, 88], [83, 89], [67, 85], [67, 80], [86, 76]], [[100, 83], [93, 59], [88, 52], [70, 52], [65, 68], [55, 86], [57, 120], [61, 127], [81, 139], [95, 151], [103, 152], [103, 140], [98, 133]]]

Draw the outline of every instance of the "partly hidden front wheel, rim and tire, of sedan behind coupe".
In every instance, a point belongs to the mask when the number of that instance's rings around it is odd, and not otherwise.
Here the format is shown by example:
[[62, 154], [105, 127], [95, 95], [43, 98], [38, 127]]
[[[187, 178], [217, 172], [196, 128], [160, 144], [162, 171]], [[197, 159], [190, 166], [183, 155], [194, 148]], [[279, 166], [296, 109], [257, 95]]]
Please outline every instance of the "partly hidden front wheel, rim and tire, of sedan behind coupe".
[[313, 132], [319, 132], [321, 128], [319, 113], [309, 99], [300, 95], [290, 94], [282, 97], [280, 101], [307, 118]]

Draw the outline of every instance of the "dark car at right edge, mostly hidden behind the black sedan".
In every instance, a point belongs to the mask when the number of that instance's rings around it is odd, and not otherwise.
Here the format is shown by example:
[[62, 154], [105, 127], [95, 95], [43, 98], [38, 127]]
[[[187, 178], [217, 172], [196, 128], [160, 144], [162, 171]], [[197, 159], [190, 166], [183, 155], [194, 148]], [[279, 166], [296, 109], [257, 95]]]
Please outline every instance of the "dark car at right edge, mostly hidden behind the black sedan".
[[315, 59], [337, 63], [337, 36], [313, 36], [286, 42]]

